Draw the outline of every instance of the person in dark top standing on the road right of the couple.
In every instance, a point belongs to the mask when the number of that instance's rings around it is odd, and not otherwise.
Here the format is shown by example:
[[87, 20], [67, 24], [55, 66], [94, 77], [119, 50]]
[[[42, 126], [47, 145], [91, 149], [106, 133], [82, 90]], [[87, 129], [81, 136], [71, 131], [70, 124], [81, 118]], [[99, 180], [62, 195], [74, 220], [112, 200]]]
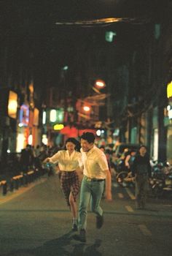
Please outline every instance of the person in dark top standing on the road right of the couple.
[[149, 178], [151, 178], [151, 165], [146, 146], [140, 146], [138, 155], [133, 160], [132, 173], [135, 177], [136, 186], [136, 208], [145, 208], [146, 193], [149, 187]]

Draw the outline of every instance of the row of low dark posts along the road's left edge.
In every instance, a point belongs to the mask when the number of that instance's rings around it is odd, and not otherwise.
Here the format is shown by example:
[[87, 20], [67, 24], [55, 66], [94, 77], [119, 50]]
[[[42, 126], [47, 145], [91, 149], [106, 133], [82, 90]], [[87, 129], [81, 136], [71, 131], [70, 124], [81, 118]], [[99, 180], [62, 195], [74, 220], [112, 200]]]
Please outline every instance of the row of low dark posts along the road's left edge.
[[22, 186], [27, 186], [31, 182], [34, 182], [36, 178], [44, 176], [48, 173], [47, 168], [29, 170], [27, 173], [22, 173], [17, 176], [13, 176], [9, 181], [0, 181], [0, 193], [2, 195], [7, 195], [7, 192], [13, 192]]

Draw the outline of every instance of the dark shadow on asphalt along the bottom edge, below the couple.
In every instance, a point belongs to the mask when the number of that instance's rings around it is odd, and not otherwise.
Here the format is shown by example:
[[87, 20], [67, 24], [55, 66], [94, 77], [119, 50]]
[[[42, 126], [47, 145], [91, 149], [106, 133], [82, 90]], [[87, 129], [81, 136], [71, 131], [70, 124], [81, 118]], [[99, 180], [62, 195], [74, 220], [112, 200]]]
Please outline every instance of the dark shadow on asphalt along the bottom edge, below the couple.
[[84, 244], [74, 241], [73, 233], [69, 232], [35, 249], [19, 249], [1, 256], [101, 256], [98, 252], [100, 246], [100, 239], [96, 239], [94, 244]]

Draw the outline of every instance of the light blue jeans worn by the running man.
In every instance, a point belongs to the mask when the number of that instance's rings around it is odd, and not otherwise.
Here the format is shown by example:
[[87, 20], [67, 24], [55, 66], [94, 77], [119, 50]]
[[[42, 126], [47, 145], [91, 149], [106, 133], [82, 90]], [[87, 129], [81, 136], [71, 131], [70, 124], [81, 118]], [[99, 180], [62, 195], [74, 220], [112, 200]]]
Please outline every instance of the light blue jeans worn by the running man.
[[104, 181], [87, 181], [85, 176], [82, 179], [79, 200], [79, 229], [86, 229], [87, 227], [87, 206], [89, 203], [91, 211], [97, 215], [103, 215], [100, 206], [103, 189]]

